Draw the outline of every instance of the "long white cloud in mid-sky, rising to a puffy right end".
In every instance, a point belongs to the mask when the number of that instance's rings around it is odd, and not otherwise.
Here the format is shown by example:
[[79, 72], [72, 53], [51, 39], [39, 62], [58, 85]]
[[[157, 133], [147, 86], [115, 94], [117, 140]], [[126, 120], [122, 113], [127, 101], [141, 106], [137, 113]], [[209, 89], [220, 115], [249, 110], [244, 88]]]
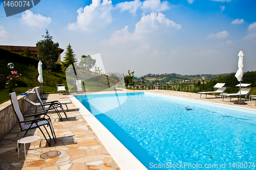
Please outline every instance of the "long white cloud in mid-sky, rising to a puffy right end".
[[113, 33], [109, 40], [104, 39], [101, 44], [119, 44], [120, 42], [127, 42], [128, 40], [141, 40], [145, 37], [151, 37], [156, 35], [155, 33], [161, 33], [163, 30], [169, 30], [170, 28], [180, 29], [181, 25], [177, 24], [173, 20], [169, 20], [162, 13], [151, 12], [148, 15], [141, 17], [140, 21], [135, 25], [135, 31], [133, 34], [128, 32], [128, 26]]

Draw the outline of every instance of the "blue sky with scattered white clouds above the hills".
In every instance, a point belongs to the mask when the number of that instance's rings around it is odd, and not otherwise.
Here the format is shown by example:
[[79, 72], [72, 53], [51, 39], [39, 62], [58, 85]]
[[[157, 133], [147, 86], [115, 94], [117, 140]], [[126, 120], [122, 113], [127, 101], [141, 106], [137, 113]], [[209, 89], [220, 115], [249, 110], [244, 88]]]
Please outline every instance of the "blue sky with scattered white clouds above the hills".
[[[76, 58], [100, 53], [106, 72], [136, 76], [256, 70], [256, 1], [48, 1], [6, 17], [0, 6], [0, 44], [35, 46], [48, 29]], [[64, 53], [61, 54], [63, 58]]]

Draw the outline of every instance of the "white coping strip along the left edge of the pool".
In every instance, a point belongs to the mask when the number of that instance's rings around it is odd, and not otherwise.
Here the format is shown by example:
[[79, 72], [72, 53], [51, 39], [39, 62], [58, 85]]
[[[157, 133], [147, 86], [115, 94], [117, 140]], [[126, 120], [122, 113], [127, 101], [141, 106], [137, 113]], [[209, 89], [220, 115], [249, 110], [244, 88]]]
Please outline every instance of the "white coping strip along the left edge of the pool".
[[[123, 93], [123, 91], [122, 91]], [[88, 94], [88, 93], [87, 93]], [[87, 95], [86, 93], [82, 95]], [[97, 93], [94, 93], [97, 94]], [[86, 109], [74, 95], [69, 95], [83, 118], [87, 121], [94, 133], [98, 136], [106, 150], [109, 151], [115, 162], [122, 170], [143, 170], [147, 169], [124, 145], [108, 130], [99, 120]]]

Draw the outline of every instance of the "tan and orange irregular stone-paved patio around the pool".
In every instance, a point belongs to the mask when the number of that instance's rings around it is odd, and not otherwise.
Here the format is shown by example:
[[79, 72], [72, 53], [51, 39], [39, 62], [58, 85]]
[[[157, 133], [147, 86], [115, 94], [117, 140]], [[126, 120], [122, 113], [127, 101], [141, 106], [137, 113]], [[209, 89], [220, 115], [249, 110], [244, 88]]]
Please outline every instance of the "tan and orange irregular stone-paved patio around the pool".
[[[133, 90], [127, 90], [127, 92], [128, 91], [135, 92]], [[202, 96], [200, 99], [200, 94], [197, 93], [166, 90], [145, 91], [256, 109], [254, 101], [247, 101], [248, 105], [234, 105], [232, 102], [234, 102], [236, 98], [232, 98], [231, 103], [229, 103], [229, 99], [224, 99], [224, 102], [222, 102], [222, 99], [215, 98], [213, 95], [207, 95], [207, 99], [204, 99], [204, 96]], [[47, 95], [45, 94], [45, 96]], [[67, 101], [70, 99], [68, 95], [49, 94], [48, 100]], [[67, 110], [66, 106], [64, 106], [64, 108]], [[67, 111], [68, 119], [64, 118], [63, 122], [60, 122], [54, 111], [49, 112], [57, 137], [56, 143], [52, 140], [51, 147], [46, 144], [45, 138], [38, 129], [29, 131], [29, 134], [27, 135], [40, 136], [43, 140], [43, 152], [59, 151], [59, 156], [47, 159], [40, 158], [39, 142], [35, 142], [36, 154], [33, 153], [33, 144], [26, 144], [26, 150], [30, 149], [27, 154], [27, 163], [25, 162], [23, 144], [20, 146], [20, 157], [18, 158], [18, 153], [15, 152], [17, 140], [23, 137], [24, 132], [17, 133], [19, 127], [16, 125], [8, 135], [5, 136], [4, 140], [0, 142], [0, 169], [120, 169], [109, 152], [106, 151], [99, 138], [87, 124], [86, 120], [84, 120], [75, 105], [68, 104], [68, 108], [70, 109], [70, 111]], [[39, 111], [41, 110], [39, 109]], [[26, 114], [33, 113], [34, 108], [31, 107]], [[65, 117], [63, 114], [61, 115], [62, 117]]]

